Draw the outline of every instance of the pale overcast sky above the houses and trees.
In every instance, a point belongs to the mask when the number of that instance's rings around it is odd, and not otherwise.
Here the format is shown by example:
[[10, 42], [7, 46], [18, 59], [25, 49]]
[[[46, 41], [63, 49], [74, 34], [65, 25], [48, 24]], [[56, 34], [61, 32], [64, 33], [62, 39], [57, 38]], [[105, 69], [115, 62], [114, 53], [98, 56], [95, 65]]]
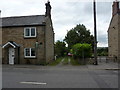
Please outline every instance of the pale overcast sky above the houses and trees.
[[[50, 0], [55, 41], [63, 40], [67, 31], [84, 24], [94, 33], [93, 0]], [[97, 0], [98, 47], [108, 46], [107, 30], [112, 17], [114, 0]], [[2, 17], [44, 15], [47, 0], [0, 0]]]

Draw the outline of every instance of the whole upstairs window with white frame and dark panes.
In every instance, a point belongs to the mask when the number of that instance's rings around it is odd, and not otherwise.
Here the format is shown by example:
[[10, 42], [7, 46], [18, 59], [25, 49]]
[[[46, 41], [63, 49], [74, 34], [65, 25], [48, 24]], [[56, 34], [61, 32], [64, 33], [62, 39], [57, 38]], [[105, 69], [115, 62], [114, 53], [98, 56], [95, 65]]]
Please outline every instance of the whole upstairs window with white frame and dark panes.
[[26, 27], [24, 28], [24, 37], [36, 37], [36, 27]]

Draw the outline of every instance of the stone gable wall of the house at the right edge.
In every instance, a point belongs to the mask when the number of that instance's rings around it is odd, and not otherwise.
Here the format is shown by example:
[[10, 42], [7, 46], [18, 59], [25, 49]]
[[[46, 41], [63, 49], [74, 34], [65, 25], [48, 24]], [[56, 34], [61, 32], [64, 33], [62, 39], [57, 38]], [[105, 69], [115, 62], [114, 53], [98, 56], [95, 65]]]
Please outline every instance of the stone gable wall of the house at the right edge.
[[109, 57], [118, 57], [118, 38], [118, 14], [116, 14], [108, 29]]

